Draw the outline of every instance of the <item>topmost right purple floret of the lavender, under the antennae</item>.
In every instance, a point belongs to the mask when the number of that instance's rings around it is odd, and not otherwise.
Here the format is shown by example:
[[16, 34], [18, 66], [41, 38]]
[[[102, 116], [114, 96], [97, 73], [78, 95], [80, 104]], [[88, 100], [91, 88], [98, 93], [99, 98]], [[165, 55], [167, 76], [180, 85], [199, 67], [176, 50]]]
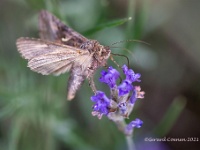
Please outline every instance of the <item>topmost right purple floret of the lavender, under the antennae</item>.
[[123, 65], [122, 67], [124, 74], [126, 75], [126, 80], [129, 80], [130, 82], [140, 82], [139, 78], [141, 75], [139, 73], [134, 73], [132, 69], [128, 69], [126, 65]]

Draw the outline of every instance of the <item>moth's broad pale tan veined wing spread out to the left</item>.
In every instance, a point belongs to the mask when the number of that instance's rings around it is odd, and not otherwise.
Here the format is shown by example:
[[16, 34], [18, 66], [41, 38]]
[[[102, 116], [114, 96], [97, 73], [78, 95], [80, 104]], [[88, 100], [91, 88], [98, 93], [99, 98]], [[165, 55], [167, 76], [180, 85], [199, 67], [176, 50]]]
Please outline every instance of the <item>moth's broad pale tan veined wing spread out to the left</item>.
[[43, 75], [65, 73], [77, 58], [89, 56], [87, 51], [80, 53], [80, 49], [38, 39], [20, 38], [17, 47], [28, 59], [28, 67]]

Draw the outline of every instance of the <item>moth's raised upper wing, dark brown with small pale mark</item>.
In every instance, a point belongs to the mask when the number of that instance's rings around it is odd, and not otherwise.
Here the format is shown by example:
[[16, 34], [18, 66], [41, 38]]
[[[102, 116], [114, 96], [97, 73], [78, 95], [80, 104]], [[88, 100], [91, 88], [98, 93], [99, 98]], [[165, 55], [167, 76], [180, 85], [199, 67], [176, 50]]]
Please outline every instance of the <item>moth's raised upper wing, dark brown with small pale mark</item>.
[[79, 47], [87, 41], [83, 35], [62, 23], [56, 16], [42, 10], [39, 14], [40, 38]]

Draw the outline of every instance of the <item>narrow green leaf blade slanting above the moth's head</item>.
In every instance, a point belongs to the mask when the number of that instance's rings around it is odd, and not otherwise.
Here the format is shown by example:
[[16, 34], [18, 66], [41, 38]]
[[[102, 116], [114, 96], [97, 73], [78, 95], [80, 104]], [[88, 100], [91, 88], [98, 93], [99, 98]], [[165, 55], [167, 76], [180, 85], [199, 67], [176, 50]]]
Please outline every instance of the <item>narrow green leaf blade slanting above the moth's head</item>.
[[94, 27], [94, 28], [92, 28], [88, 31], [85, 31], [83, 34], [84, 35], [91, 35], [91, 34], [94, 34], [95, 32], [98, 32], [98, 31], [104, 29], [104, 28], [120, 26], [120, 25], [122, 25], [122, 24], [124, 24], [124, 23], [126, 23], [127, 21], [130, 21], [130, 20], [131, 20], [131, 17], [113, 20], [113, 21], [98, 25], [98, 26], [96, 26], [96, 27]]

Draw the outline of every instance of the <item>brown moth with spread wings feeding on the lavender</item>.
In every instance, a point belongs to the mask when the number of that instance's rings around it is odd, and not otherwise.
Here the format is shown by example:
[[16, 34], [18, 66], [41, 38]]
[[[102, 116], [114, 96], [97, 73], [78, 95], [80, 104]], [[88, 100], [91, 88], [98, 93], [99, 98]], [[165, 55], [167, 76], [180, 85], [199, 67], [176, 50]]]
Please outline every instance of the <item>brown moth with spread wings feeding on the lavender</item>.
[[67, 99], [75, 97], [83, 81], [88, 78], [93, 91], [95, 70], [106, 65], [109, 47], [89, 40], [63, 24], [47, 11], [39, 14], [40, 39], [19, 38], [16, 45], [28, 67], [43, 75], [60, 75], [70, 71]]

